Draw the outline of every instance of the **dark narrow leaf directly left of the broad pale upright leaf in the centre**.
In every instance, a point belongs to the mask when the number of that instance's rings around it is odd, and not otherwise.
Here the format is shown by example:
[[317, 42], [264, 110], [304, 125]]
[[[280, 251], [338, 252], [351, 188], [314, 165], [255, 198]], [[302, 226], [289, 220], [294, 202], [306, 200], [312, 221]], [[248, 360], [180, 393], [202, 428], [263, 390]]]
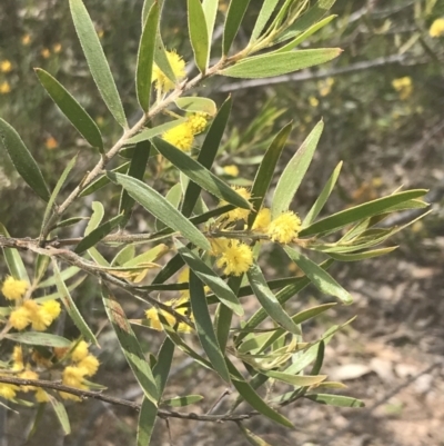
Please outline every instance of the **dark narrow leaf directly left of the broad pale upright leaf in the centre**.
[[269, 190], [270, 184], [274, 176], [279, 158], [281, 157], [282, 150], [285, 147], [286, 140], [292, 131], [292, 123], [287, 123], [283, 127], [279, 133], [274, 137], [272, 143], [266, 149], [266, 152], [259, 166], [256, 176], [254, 177], [253, 187], [251, 188], [252, 204], [255, 214], [249, 216], [249, 227], [254, 222], [256, 212], [261, 210], [261, 207], [265, 200], [266, 191]]

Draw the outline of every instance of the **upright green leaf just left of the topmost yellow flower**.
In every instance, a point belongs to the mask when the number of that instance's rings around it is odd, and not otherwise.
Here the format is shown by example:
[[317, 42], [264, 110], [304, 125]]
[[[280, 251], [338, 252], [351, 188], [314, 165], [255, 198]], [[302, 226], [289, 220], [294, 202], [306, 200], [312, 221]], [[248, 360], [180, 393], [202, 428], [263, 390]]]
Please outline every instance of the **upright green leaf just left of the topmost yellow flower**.
[[144, 21], [142, 37], [140, 38], [138, 65], [135, 69], [135, 90], [142, 110], [150, 108], [151, 78], [154, 63], [155, 37], [159, 26], [159, 3], [154, 2]]

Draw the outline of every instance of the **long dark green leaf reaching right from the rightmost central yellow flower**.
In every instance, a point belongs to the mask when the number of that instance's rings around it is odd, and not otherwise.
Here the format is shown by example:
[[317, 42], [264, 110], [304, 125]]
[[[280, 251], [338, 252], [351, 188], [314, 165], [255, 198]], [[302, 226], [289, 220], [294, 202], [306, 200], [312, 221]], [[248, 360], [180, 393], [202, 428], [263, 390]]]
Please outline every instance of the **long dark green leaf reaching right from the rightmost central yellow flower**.
[[392, 206], [423, 197], [425, 194], [427, 194], [427, 190], [425, 189], [407, 190], [405, 192], [393, 194], [387, 197], [377, 198], [376, 200], [342, 210], [310, 225], [307, 228], [302, 229], [300, 237], [313, 236], [316, 234], [331, 231], [333, 229], [343, 228], [344, 226], [354, 221], [373, 217], [379, 214], [384, 214], [386, 209]]

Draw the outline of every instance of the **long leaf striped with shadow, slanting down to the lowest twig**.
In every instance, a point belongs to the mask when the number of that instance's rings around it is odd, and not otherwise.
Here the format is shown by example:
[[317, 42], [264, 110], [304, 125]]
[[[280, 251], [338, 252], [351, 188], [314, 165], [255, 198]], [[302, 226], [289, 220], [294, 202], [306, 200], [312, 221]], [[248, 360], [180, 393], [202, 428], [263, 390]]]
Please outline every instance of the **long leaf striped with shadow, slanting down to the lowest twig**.
[[135, 379], [143, 389], [145, 397], [154, 405], [158, 405], [159, 389], [154, 376], [143, 355], [142, 348], [131, 328], [130, 323], [121, 305], [110, 294], [109, 289], [102, 285], [102, 297], [104, 309], [111, 321], [112, 328], [118, 336], [120, 347], [130, 365]]

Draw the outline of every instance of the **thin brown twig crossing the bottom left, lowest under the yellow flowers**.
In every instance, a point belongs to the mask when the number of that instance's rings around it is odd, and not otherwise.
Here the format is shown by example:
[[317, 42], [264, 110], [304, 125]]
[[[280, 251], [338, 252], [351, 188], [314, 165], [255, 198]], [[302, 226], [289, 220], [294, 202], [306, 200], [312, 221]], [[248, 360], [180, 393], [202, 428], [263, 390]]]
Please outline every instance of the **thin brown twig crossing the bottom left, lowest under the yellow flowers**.
[[[91, 392], [91, 390], [81, 390], [74, 387], [64, 386], [63, 384], [49, 381], [44, 379], [22, 379], [9, 376], [0, 375], [0, 383], [12, 384], [16, 386], [33, 386], [41, 387], [44, 389], [64, 392], [67, 394], [75, 395], [82, 399], [99, 399], [103, 403], [113, 404], [117, 406], [129, 407], [133, 410], [140, 410], [141, 405], [139, 403], [130, 402], [128, 399], [115, 398], [113, 396], [103, 395], [101, 392]], [[181, 418], [181, 419], [195, 419], [198, 422], [210, 422], [210, 423], [220, 423], [220, 422], [242, 422], [244, 419], [249, 419], [255, 415], [259, 415], [256, 412], [251, 412], [249, 414], [239, 414], [239, 415], [200, 415], [200, 414], [185, 414], [182, 412], [173, 412], [173, 410], [164, 410], [159, 409], [158, 417], [160, 418]]]

